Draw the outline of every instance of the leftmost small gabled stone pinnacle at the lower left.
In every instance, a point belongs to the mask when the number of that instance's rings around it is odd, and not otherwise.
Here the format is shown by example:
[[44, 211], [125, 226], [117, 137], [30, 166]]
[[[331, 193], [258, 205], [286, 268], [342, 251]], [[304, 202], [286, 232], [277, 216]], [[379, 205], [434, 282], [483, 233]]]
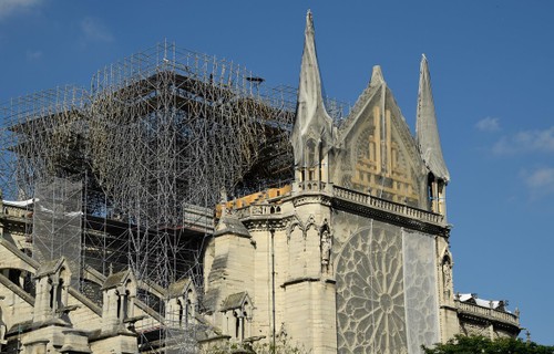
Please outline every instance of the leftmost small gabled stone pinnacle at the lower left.
[[[63, 317], [68, 305], [71, 271], [65, 258], [43, 263], [37, 274], [33, 323]], [[62, 319], [68, 320], [68, 319]]]

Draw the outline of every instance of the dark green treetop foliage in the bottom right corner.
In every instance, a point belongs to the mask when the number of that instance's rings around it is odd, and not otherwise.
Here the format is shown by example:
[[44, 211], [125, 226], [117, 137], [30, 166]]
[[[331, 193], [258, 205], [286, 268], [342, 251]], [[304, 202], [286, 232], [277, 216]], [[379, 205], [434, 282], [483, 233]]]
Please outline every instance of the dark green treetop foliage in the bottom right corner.
[[425, 354], [554, 354], [554, 346], [526, 343], [519, 339], [456, 335], [444, 344], [422, 346]]

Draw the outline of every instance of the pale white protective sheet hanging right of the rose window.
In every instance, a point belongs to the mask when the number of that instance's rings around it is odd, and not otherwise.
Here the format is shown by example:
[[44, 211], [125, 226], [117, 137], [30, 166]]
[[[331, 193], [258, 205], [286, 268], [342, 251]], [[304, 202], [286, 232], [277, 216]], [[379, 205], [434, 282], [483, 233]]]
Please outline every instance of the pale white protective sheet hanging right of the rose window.
[[439, 342], [439, 302], [434, 238], [402, 231], [408, 353]]

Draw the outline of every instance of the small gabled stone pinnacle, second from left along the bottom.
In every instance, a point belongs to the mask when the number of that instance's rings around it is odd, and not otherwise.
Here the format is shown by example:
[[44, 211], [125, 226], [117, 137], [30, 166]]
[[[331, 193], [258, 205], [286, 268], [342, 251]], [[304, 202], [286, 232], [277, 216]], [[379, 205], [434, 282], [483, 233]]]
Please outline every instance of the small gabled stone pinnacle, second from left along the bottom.
[[136, 288], [136, 278], [130, 269], [107, 277], [102, 287], [103, 333], [126, 331], [126, 323], [133, 321]]

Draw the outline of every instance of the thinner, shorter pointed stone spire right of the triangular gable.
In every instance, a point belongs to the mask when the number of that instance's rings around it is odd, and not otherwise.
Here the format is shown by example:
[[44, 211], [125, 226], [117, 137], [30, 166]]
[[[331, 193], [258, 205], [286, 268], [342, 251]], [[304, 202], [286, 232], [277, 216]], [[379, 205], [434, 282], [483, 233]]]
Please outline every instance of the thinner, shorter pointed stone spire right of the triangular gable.
[[433, 94], [431, 92], [431, 76], [424, 54], [421, 59], [416, 134], [418, 147], [427, 167], [437, 179], [448, 184], [450, 174], [442, 157]]

